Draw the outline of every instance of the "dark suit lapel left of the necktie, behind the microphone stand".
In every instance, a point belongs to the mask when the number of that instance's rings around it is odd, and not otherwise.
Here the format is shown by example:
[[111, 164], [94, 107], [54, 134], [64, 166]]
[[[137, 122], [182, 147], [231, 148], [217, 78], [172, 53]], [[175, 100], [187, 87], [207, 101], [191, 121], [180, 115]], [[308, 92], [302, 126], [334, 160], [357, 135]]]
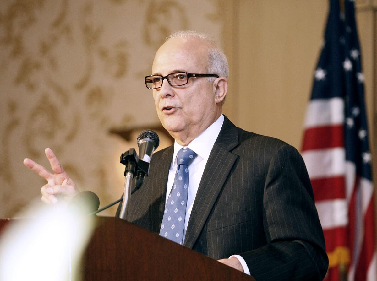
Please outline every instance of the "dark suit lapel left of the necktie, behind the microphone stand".
[[152, 218], [152, 231], [156, 233], [160, 231], [160, 224], [162, 217], [164, 216], [167, 177], [169, 175], [169, 168], [170, 164], [172, 163], [173, 153], [174, 145], [166, 148], [161, 155], [161, 160], [158, 161], [159, 166], [156, 167], [156, 171], [153, 172], [150, 215]]

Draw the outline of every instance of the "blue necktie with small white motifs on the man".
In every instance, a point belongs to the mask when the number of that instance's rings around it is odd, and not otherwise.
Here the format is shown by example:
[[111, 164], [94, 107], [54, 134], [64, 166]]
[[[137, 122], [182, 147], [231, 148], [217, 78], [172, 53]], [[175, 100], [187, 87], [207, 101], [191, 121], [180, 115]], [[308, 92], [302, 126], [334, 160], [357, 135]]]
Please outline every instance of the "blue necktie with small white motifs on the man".
[[182, 245], [185, 225], [187, 194], [189, 192], [189, 166], [196, 153], [190, 148], [181, 148], [177, 154], [177, 173], [173, 188], [166, 202], [160, 235]]

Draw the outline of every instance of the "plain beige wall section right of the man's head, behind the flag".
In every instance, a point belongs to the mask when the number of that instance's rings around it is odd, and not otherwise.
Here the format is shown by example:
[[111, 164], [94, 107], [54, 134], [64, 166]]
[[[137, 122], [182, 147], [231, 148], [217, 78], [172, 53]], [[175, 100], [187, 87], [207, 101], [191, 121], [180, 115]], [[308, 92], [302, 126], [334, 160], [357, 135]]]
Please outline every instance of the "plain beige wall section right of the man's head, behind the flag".
[[[367, 1], [360, 2], [357, 2], [357, 21], [372, 136], [376, 126], [373, 124], [375, 11], [364, 3]], [[237, 8], [230, 17], [237, 35], [225, 35], [229, 37], [225, 49], [233, 58], [228, 95], [231, 101], [226, 104], [225, 112], [240, 127], [285, 140], [300, 150], [328, 0], [238, 0], [234, 6]]]

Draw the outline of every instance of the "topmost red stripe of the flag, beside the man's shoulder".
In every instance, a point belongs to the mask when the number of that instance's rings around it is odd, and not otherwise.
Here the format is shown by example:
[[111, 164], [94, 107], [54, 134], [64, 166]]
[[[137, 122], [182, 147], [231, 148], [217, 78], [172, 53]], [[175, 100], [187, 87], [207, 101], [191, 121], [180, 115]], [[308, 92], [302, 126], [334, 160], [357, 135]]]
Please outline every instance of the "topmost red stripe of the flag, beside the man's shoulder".
[[313, 127], [305, 130], [302, 151], [344, 147], [343, 125]]

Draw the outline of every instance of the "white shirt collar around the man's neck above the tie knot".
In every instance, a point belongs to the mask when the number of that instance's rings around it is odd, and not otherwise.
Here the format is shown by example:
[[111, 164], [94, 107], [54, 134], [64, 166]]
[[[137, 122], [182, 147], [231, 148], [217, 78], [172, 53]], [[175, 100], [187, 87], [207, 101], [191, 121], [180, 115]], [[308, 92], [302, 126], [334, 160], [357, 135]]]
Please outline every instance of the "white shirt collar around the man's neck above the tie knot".
[[[213, 122], [207, 129], [205, 129], [198, 137], [193, 139], [189, 145], [184, 148], [190, 148], [199, 157], [204, 160], [208, 160], [212, 147], [215, 144], [217, 137], [219, 136], [222, 124], [224, 123], [224, 115], [220, 115], [220, 117]], [[174, 153], [173, 153], [173, 161], [172, 161], [172, 168], [176, 165], [176, 157], [178, 151], [182, 148], [182, 145], [178, 144], [176, 140], [174, 140]]]

